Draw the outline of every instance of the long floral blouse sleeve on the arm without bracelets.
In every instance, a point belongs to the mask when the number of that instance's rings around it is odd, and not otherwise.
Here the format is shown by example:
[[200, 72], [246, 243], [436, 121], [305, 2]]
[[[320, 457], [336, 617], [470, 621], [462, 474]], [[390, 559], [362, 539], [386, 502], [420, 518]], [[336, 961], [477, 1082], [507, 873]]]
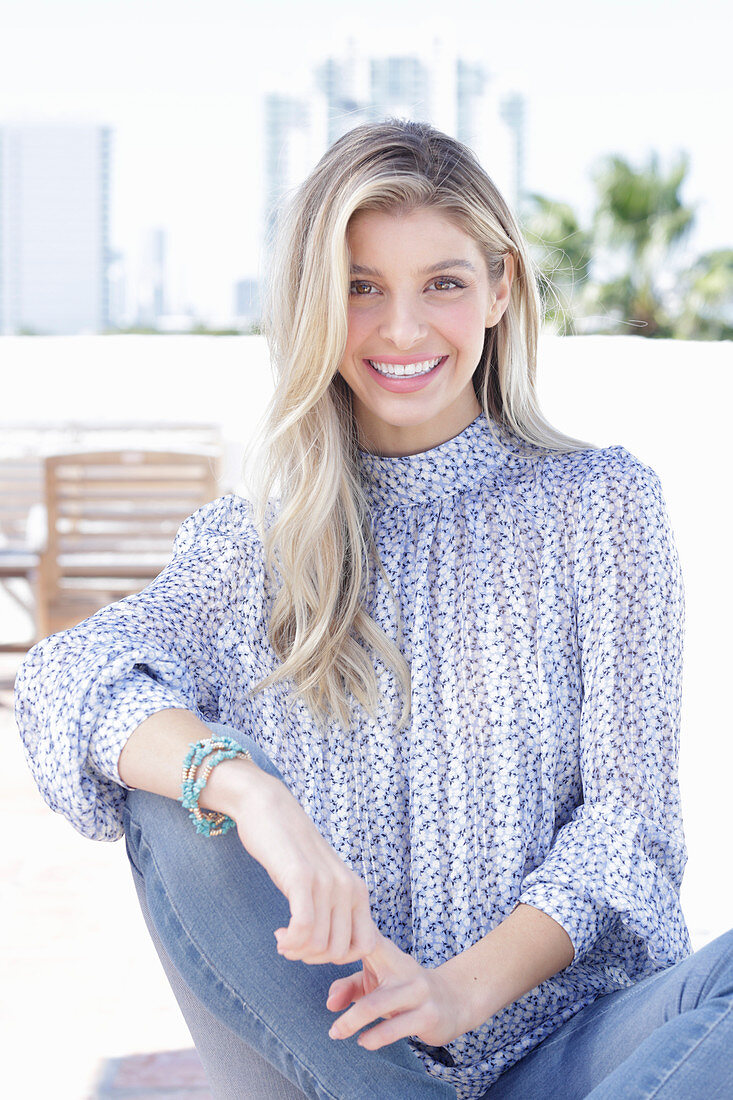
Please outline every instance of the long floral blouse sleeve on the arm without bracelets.
[[565, 927], [576, 960], [621, 925], [657, 969], [689, 949], [679, 905], [682, 581], [654, 471], [610, 448], [581, 473], [569, 526], [583, 801], [521, 900]]

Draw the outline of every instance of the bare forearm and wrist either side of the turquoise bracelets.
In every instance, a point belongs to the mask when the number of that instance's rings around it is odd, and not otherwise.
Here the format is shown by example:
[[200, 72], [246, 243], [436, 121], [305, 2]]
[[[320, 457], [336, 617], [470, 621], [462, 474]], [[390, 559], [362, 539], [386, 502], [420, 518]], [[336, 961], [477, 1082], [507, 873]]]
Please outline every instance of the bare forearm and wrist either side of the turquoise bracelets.
[[[208, 726], [192, 711], [156, 711], [133, 730], [118, 762], [120, 779], [128, 787], [180, 798], [183, 761], [194, 741], [211, 737]], [[232, 814], [244, 787], [256, 769], [250, 760], [225, 760], [211, 772], [199, 799], [204, 810]]]

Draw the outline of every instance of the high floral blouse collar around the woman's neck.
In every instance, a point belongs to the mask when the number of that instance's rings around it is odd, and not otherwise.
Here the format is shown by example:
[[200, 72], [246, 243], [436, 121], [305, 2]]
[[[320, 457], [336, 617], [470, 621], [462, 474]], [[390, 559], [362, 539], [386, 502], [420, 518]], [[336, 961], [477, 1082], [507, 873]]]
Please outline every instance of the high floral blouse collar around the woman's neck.
[[500, 466], [526, 463], [538, 449], [480, 414], [458, 436], [419, 454], [385, 458], [359, 451], [359, 470], [373, 506], [420, 504], [472, 488]]

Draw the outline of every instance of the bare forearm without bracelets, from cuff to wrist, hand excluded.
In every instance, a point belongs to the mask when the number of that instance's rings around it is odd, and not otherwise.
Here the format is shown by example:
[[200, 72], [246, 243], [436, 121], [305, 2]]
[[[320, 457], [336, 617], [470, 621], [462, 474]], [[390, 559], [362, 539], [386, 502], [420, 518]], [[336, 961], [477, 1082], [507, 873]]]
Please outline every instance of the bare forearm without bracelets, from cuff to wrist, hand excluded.
[[438, 968], [466, 1005], [470, 1031], [572, 963], [567, 932], [532, 905], [517, 905], [472, 947]]

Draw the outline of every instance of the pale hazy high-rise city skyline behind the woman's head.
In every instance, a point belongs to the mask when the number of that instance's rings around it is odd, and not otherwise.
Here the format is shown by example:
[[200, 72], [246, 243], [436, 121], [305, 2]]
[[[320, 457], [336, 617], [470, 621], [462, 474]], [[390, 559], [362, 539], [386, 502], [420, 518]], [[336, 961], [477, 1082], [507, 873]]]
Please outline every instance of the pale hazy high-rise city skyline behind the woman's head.
[[[431, 120], [491, 158], [512, 206], [524, 197], [524, 98], [502, 91], [483, 64], [447, 57], [439, 45], [422, 61], [368, 57], [351, 44], [347, 55], [316, 66], [298, 95], [266, 95], [263, 114], [265, 256], [283, 200], [332, 142], [365, 121]], [[112, 246], [114, 138], [111, 127], [91, 122], [0, 123], [0, 334], [211, 326], [198, 302], [176, 294], [165, 228], [142, 231], [144, 252], [134, 266]], [[258, 326], [260, 280], [238, 279], [230, 292], [214, 326]]]

